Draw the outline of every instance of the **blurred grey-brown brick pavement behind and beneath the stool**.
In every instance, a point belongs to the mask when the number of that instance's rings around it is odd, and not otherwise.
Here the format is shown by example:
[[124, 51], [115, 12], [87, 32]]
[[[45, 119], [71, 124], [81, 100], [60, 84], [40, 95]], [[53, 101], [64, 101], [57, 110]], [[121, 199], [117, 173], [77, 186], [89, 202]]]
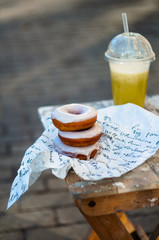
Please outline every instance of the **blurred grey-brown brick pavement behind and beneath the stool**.
[[[44, 172], [6, 212], [11, 183], [43, 131], [38, 107], [112, 97], [104, 52], [123, 31], [122, 12], [152, 44], [147, 93], [159, 94], [159, 1], [0, 0], [0, 8], [0, 239], [85, 239], [89, 226], [64, 181]], [[129, 215], [151, 233], [159, 210]]]

